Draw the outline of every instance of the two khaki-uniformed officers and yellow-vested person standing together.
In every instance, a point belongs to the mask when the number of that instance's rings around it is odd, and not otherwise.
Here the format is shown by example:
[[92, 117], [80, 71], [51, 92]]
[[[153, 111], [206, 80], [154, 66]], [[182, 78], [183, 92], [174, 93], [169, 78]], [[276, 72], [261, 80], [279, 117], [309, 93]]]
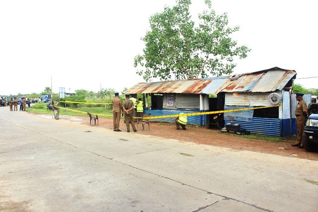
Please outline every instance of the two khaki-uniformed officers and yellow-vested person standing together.
[[[130, 94], [126, 93], [125, 97], [126, 100], [122, 102], [122, 100], [119, 98], [119, 93], [116, 92], [114, 93], [115, 97], [111, 100], [113, 104], [113, 127], [114, 131], [120, 132], [121, 130], [119, 129], [119, 122], [120, 122], [120, 114], [121, 116], [125, 116], [125, 123], [127, 127], [127, 132], [130, 132], [130, 125], [133, 128], [134, 132], [137, 132], [135, 122], [134, 122], [134, 115], [136, 113], [137, 109], [137, 116], [142, 117], [144, 113], [144, 105], [143, 101], [141, 98], [138, 100], [134, 97], [129, 98]], [[135, 109], [136, 108], [136, 109]]]

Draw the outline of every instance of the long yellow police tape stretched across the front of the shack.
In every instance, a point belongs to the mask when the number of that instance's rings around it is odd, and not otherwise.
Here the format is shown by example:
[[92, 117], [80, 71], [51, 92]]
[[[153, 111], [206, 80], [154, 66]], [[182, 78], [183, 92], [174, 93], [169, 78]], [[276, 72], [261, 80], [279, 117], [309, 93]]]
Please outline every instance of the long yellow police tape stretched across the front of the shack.
[[[232, 109], [232, 110], [208, 111], [208, 112], [196, 112], [196, 113], [184, 113], [184, 114], [182, 114], [182, 116], [200, 116], [200, 115], [210, 115], [210, 114], [220, 114], [220, 113], [231, 113], [231, 112], [238, 112], [238, 111], [245, 111], [245, 110], [255, 110], [255, 109], [270, 108], [270, 107], [279, 107], [279, 106], [282, 106], [282, 105], [253, 107], [253, 108], [240, 108], [240, 109]], [[72, 109], [68, 109], [68, 108], [64, 108], [64, 107], [58, 107], [58, 106], [54, 106], [54, 107], [87, 114], [87, 112], [83, 112], [83, 111], [79, 111], [79, 110], [72, 110]], [[180, 111], [180, 112], [182, 112], [182, 111]], [[112, 116], [112, 115], [97, 114], [97, 113], [91, 113], [91, 114], [99, 115], [99, 116]], [[143, 119], [161, 119], [161, 118], [171, 118], [171, 117], [179, 117], [179, 116], [180, 116], [179, 114], [176, 114], [176, 115], [165, 115], [165, 116], [150, 116], [150, 117], [144, 117]], [[140, 117], [133, 117], [133, 118], [137, 119], [137, 118], [140, 118]]]

